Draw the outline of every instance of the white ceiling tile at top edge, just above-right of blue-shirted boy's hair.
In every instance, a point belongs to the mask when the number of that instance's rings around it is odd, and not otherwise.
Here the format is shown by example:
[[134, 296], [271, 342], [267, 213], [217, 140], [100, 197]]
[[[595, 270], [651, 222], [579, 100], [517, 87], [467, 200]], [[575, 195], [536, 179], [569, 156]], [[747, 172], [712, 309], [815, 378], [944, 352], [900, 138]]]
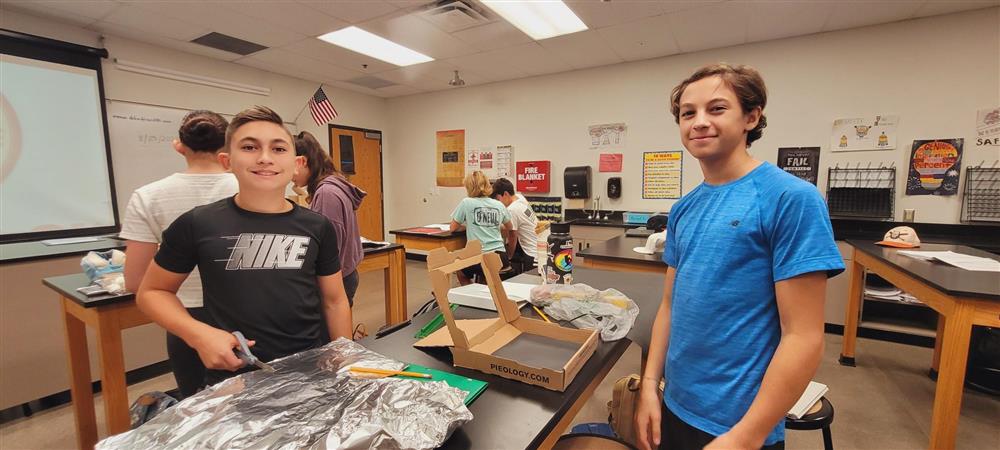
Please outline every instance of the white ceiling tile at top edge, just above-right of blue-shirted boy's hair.
[[833, 6], [829, 0], [755, 0], [750, 3], [747, 42], [819, 33]]

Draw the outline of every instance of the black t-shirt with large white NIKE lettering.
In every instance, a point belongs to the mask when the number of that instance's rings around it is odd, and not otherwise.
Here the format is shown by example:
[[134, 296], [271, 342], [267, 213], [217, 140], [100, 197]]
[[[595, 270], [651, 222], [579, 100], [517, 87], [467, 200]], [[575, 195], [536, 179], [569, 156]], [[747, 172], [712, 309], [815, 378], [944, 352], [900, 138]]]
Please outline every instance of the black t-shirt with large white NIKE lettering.
[[326, 326], [316, 277], [340, 271], [333, 226], [294, 205], [257, 213], [234, 197], [199, 206], [163, 232], [156, 263], [175, 273], [201, 272], [205, 308], [219, 328], [256, 340], [264, 361], [321, 344]]

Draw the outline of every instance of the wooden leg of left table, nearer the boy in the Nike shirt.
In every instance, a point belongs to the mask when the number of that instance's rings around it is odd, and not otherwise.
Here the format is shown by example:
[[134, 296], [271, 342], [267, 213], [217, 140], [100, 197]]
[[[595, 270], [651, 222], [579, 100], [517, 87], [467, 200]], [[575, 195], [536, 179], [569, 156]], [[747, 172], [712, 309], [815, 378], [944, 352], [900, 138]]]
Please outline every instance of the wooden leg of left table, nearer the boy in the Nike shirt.
[[101, 393], [108, 435], [128, 431], [128, 391], [125, 387], [125, 357], [118, 311], [98, 314], [97, 339], [101, 354]]

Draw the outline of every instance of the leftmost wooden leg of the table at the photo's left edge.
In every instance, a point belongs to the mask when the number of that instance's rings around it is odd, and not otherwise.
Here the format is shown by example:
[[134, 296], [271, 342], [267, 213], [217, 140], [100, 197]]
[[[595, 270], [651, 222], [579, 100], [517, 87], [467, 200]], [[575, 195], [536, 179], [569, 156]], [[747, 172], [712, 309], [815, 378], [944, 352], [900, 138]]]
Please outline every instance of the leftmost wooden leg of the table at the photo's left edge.
[[94, 413], [94, 391], [90, 384], [90, 356], [87, 350], [87, 326], [66, 310], [63, 298], [63, 324], [66, 327], [66, 350], [69, 362], [69, 389], [73, 398], [73, 417], [76, 419], [76, 445], [91, 449], [97, 444], [97, 417]]

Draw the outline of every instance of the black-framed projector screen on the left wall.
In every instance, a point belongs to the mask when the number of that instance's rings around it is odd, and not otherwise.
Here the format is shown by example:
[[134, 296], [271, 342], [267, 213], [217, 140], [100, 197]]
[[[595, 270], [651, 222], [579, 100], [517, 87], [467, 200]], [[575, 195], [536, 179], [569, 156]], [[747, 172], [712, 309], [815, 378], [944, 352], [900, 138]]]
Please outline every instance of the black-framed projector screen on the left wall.
[[117, 231], [100, 52], [0, 33], [0, 242]]

